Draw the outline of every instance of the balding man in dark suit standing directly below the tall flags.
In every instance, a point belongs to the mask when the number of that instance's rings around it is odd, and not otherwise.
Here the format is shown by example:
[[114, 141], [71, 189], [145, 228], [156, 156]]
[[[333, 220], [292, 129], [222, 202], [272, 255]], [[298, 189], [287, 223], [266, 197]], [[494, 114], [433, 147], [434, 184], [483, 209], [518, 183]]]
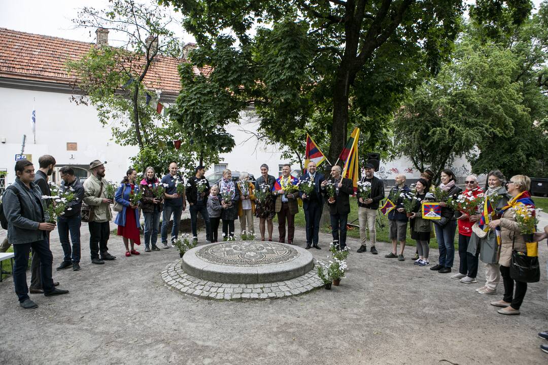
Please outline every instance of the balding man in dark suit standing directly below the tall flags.
[[339, 241], [341, 250], [346, 247], [346, 222], [350, 213], [349, 196], [354, 194], [352, 180], [342, 177], [342, 172], [343, 169], [338, 165], [331, 167], [331, 178], [322, 183], [323, 189], [325, 189], [328, 182], [335, 186], [335, 196], [328, 198], [327, 204], [329, 205], [329, 214], [331, 215], [333, 241]]

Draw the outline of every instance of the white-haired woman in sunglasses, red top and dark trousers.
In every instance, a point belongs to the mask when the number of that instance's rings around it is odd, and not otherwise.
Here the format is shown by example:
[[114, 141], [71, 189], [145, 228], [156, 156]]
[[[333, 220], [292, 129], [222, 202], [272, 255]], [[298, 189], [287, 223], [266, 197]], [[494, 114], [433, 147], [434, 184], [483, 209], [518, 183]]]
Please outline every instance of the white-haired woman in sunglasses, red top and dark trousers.
[[[475, 199], [478, 195], [483, 195], [482, 188], [478, 187], [478, 179], [474, 175], [466, 177], [464, 182], [466, 190], [459, 195], [459, 200], [462, 199]], [[467, 252], [468, 245], [470, 243], [470, 236], [472, 235], [472, 224], [477, 219], [472, 219], [470, 215], [465, 212], [460, 212], [461, 215], [457, 219], [459, 226], [459, 257], [460, 265], [459, 272], [451, 276], [451, 279], [460, 279], [460, 282], [470, 284], [477, 282], [476, 275], [478, 273], [478, 254], [471, 254]]]

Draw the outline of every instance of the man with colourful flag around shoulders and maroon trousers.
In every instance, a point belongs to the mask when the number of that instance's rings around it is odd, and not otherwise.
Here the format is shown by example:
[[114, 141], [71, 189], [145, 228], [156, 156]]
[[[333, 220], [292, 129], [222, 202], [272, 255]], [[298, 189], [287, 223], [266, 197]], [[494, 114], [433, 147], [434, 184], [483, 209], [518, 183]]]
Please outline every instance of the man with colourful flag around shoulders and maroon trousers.
[[282, 176], [276, 179], [272, 188], [272, 193], [276, 195], [276, 205], [274, 211], [278, 215], [279, 242], [286, 242], [286, 220], [287, 220], [287, 243], [293, 244], [295, 234], [295, 215], [299, 212], [297, 198], [299, 190], [296, 187], [299, 181], [291, 176], [291, 165], [282, 166]]

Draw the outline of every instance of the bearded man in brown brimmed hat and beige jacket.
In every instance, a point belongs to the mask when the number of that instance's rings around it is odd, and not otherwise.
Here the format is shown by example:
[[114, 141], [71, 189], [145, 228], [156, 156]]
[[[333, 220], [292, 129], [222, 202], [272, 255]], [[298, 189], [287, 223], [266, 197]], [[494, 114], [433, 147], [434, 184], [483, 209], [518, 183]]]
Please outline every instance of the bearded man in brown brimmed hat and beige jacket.
[[[112, 200], [106, 197], [106, 186], [108, 182], [105, 177], [105, 164], [99, 160], [93, 160], [89, 164], [89, 171], [92, 172], [84, 182], [84, 202], [93, 211], [93, 217], [88, 222], [89, 227], [89, 251], [92, 256], [92, 263], [104, 264], [104, 260], [115, 260], [116, 256], [109, 253], [107, 241], [110, 236], [110, 205]], [[100, 254], [100, 256], [99, 256]]]

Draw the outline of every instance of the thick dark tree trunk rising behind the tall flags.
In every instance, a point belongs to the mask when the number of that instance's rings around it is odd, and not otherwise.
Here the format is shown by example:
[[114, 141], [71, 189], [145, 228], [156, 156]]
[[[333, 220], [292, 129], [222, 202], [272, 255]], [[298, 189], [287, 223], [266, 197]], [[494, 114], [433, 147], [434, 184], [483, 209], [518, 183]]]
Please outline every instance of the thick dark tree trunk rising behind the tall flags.
[[341, 63], [335, 79], [333, 96], [333, 124], [331, 126], [331, 144], [328, 159], [335, 164], [346, 143], [348, 129], [348, 101], [350, 92], [350, 67]]

